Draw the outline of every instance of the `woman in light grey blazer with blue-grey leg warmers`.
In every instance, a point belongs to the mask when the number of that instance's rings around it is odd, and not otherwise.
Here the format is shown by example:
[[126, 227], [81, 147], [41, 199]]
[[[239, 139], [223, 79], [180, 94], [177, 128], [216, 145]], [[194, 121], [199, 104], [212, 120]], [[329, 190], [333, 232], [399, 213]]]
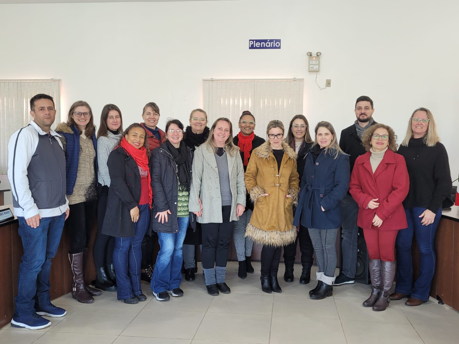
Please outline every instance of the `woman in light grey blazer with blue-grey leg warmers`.
[[233, 221], [246, 207], [244, 167], [233, 143], [233, 126], [228, 118], [218, 118], [209, 137], [195, 151], [192, 165], [189, 211], [202, 228], [202, 267], [207, 292], [229, 294], [225, 283], [228, 248]]

